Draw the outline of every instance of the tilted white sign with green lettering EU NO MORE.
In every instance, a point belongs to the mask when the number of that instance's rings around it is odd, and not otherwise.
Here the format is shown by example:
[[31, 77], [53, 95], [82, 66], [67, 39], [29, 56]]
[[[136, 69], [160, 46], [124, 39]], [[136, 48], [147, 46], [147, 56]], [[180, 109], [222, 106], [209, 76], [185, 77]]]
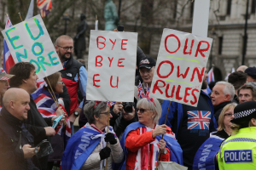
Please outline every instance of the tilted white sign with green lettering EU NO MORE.
[[2, 34], [15, 63], [32, 63], [39, 79], [63, 69], [39, 14], [3, 30]]

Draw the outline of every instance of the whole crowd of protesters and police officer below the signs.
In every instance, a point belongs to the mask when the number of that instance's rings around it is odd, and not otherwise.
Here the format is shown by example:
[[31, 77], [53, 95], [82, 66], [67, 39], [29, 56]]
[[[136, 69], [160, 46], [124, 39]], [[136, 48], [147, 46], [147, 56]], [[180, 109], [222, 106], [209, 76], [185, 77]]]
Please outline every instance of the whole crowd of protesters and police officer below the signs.
[[[63, 70], [44, 80], [26, 62], [0, 72], [1, 169], [153, 170], [159, 161], [189, 170], [256, 169], [256, 67], [241, 65], [211, 94], [203, 91], [205, 72], [196, 107], [139, 98], [139, 88], [151, 88], [156, 62], [137, 47], [134, 102], [109, 108], [86, 99], [87, 71], [73, 57], [73, 39], [58, 37], [55, 50]], [[44, 139], [52, 151], [38, 156]]]

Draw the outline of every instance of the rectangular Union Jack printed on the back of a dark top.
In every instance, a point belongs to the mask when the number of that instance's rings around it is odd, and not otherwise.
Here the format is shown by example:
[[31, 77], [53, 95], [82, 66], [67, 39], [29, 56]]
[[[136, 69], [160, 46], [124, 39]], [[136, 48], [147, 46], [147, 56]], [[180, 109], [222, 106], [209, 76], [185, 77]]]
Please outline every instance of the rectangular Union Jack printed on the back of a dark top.
[[187, 111], [188, 129], [207, 129], [211, 122], [211, 111]]

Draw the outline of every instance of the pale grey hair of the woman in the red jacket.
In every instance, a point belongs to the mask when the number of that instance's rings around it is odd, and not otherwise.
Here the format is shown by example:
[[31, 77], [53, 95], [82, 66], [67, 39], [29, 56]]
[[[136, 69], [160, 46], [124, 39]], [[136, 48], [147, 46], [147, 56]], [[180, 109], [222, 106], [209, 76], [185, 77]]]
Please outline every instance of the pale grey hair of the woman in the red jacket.
[[143, 107], [143, 109], [148, 109], [151, 111], [156, 112], [156, 116], [154, 116], [154, 122], [157, 122], [160, 119], [161, 113], [162, 113], [162, 108], [161, 105], [158, 101], [158, 99], [152, 98], [154, 100], [154, 103], [152, 101], [148, 102], [147, 98], [140, 99], [137, 102], [137, 108]]

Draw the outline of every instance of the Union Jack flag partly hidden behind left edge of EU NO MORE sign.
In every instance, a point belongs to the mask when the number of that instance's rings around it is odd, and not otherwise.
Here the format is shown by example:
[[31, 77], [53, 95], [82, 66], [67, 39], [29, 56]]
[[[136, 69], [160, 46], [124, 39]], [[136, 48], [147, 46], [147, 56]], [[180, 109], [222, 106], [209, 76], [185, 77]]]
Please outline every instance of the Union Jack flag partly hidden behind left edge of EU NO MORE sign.
[[[7, 15], [6, 25], [5, 29], [8, 29], [9, 27], [13, 26], [11, 21], [9, 20], [9, 16]], [[6, 41], [3, 41], [3, 69], [7, 73], [9, 73], [9, 69], [15, 65], [15, 60], [13, 59], [12, 55], [10, 54], [8, 45]]]

